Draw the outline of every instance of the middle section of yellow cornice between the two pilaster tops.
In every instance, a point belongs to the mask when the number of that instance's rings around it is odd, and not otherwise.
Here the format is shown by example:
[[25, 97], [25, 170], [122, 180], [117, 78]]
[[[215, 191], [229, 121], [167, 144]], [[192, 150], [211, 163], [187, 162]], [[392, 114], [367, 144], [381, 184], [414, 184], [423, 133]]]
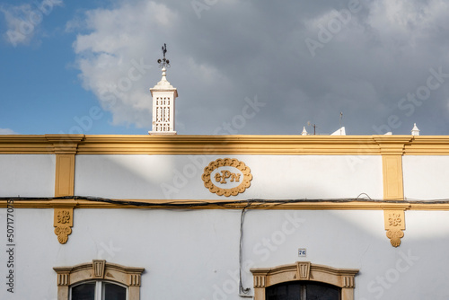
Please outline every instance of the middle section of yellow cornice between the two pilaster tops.
[[371, 137], [86, 136], [78, 154], [380, 154]]

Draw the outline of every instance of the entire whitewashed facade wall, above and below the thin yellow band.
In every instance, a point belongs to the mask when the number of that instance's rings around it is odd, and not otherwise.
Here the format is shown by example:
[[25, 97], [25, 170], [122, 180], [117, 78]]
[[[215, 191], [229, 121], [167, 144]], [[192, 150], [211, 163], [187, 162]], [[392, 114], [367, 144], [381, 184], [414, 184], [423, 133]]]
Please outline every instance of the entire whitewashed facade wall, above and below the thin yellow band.
[[[251, 188], [235, 198], [201, 181], [216, 158], [251, 167]], [[54, 155], [0, 155], [2, 196], [52, 196]], [[404, 156], [404, 190], [416, 199], [447, 198], [449, 157]], [[166, 197], [162, 185], [177, 190]], [[114, 199], [382, 198], [381, 156], [77, 155], [75, 194]], [[0, 209], [0, 224], [5, 224]], [[141, 299], [241, 299], [239, 210], [75, 209], [73, 234], [59, 244], [53, 209], [15, 209], [15, 293], [0, 299], [55, 300], [52, 269], [105, 259], [143, 267]], [[399, 248], [385, 236], [382, 210], [249, 210], [243, 226], [243, 286], [250, 268], [307, 260], [360, 269], [356, 299], [447, 299], [449, 212], [406, 211]], [[1, 232], [1, 231], [0, 231]], [[5, 232], [5, 225], [4, 225]], [[5, 243], [4, 243], [5, 244]], [[307, 249], [298, 258], [298, 248]], [[0, 277], [6, 275], [0, 251]], [[4, 275], [2, 275], [4, 274]], [[252, 291], [251, 291], [252, 293]]]

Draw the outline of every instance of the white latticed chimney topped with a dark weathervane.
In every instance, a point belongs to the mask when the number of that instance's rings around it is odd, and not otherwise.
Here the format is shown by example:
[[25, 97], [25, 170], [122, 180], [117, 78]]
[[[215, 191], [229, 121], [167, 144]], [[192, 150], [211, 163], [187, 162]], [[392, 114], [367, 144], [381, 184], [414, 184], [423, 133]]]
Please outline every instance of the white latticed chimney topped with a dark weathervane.
[[167, 45], [163, 44], [163, 59], [157, 62], [162, 68], [163, 77], [160, 82], [150, 89], [153, 96], [153, 130], [150, 135], [176, 135], [174, 130], [174, 101], [178, 97], [178, 91], [167, 81], [166, 67], [170, 67], [170, 61], [165, 58]]

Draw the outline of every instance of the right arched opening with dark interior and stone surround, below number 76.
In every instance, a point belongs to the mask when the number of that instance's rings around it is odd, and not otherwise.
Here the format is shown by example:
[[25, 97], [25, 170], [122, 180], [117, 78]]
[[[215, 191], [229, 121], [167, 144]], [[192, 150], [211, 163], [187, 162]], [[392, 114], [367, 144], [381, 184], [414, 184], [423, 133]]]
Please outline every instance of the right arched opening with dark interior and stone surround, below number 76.
[[297, 261], [251, 272], [254, 300], [354, 300], [358, 269], [335, 269]]

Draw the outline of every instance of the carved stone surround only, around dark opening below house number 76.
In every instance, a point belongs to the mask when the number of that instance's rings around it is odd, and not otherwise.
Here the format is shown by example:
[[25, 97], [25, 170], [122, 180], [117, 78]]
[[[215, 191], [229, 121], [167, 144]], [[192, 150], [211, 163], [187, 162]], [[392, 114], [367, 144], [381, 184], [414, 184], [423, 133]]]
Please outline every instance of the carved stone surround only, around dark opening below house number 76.
[[310, 261], [296, 261], [293, 264], [275, 268], [251, 269], [254, 280], [254, 300], [265, 300], [265, 289], [279, 283], [304, 280], [321, 282], [341, 288], [341, 300], [354, 300], [354, 277], [358, 269], [336, 269], [312, 264]]

